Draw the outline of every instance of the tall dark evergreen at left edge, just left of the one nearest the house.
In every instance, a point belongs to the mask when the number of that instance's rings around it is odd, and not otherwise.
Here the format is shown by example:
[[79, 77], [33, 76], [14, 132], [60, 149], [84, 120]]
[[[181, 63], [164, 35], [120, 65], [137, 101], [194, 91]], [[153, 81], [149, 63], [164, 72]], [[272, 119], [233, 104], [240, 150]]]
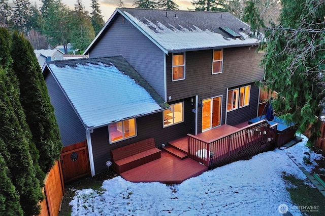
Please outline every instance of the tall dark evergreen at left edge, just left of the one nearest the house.
[[[12, 93], [17, 91], [8, 75], [1, 70], [0, 73], [0, 137], [4, 141], [8, 154], [3, 155], [10, 172], [10, 179], [19, 193], [19, 203], [24, 215], [38, 215], [43, 199], [40, 181], [36, 178], [36, 168], [29, 153], [30, 140], [26, 137], [27, 128], [21, 127], [15, 114], [21, 112], [22, 107], [13, 107]], [[15, 93], [14, 93], [15, 94]], [[19, 104], [19, 102], [16, 102]], [[23, 119], [22, 119], [23, 120]], [[17, 210], [19, 213], [19, 209]]]

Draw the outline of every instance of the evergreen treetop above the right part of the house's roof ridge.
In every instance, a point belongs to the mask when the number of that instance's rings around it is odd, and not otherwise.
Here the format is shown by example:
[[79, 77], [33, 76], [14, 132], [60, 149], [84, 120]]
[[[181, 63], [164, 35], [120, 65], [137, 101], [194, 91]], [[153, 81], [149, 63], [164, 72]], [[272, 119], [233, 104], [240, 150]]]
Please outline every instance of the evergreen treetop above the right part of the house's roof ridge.
[[225, 0], [197, 0], [191, 2], [196, 11], [226, 11]]

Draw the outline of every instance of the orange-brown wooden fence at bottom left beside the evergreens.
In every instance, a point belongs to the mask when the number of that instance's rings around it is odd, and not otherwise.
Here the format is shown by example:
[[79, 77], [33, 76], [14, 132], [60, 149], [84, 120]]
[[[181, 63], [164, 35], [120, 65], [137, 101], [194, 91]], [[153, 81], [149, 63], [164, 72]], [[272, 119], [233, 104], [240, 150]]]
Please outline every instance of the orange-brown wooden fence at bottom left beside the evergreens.
[[62, 170], [58, 161], [45, 176], [43, 194], [45, 199], [40, 203], [42, 208], [40, 216], [58, 215], [64, 195]]

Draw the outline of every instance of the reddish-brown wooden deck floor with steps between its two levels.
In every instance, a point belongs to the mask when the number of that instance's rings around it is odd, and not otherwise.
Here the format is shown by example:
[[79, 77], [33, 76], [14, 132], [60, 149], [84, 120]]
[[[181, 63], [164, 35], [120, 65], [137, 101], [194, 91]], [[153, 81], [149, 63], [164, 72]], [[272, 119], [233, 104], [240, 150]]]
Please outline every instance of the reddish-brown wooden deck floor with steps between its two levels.
[[[232, 133], [238, 127], [221, 125], [209, 131], [198, 134], [201, 139], [210, 141], [217, 137]], [[187, 154], [187, 136], [169, 142], [174, 149]], [[165, 184], [180, 184], [186, 179], [196, 177], [207, 171], [208, 167], [188, 157], [181, 159], [164, 150], [161, 158], [122, 172], [120, 175], [130, 182], [160, 182]]]

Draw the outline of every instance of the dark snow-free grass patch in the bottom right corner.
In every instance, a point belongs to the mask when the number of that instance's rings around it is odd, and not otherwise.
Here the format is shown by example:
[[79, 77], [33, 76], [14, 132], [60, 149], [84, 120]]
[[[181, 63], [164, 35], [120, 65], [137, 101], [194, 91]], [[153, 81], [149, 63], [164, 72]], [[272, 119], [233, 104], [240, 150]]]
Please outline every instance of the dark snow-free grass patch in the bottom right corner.
[[287, 181], [286, 190], [290, 193], [291, 200], [295, 206], [288, 206], [288, 211], [300, 211], [303, 215], [325, 215], [325, 198], [317, 190], [309, 185], [305, 185], [303, 180], [294, 176], [283, 176]]

